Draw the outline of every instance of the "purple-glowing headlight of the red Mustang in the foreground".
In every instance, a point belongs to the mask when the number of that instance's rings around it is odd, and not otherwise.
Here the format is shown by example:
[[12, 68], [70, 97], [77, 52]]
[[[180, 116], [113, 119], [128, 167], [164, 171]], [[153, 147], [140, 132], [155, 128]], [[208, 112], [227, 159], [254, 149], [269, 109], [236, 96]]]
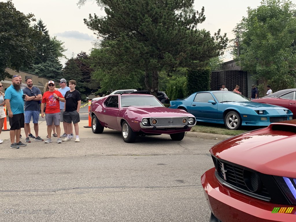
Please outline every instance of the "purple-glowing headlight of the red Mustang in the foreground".
[[296, 179], [284, 176], [275, 176], [275, 179], [290, 202], [296, 205]]

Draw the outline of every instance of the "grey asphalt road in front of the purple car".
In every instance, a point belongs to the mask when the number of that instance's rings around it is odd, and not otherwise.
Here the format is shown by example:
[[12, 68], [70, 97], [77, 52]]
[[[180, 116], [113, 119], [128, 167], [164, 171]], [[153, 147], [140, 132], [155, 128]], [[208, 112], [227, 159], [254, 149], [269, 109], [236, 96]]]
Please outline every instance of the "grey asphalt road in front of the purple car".
[[80, 130], [80, 143], [0, 147], [0, 222], [209, 221], [200, 177], [219, 140], [161, 135], [127, 144], [118, 131]]

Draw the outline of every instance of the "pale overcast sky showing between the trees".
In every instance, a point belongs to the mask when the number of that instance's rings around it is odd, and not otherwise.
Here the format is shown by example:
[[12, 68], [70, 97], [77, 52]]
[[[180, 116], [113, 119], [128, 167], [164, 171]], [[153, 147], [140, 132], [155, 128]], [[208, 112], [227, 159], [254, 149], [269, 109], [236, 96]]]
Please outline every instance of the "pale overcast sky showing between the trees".
[[[72, 53], [76, 57], [81, 51], [90, 53], [92, 41], [96, 40], [96, 36], [83, 23], [83, 19], [88, 18], [89, 13], [104, 15], [104, 11], [94, 3], [94, 0], [88, 0], [80, 9], [76, 5], [78, 0], [12, 0], [12, 2], [17, 10], [25, 14], [33, 13], [37, 20], [41, 19], [49, 34], [57, 36], [57, 39], [64, 42], [67, 58], [70, 58]], [[296, 0], [292, 2], [296, 4]], [[247, 7], [256, 8], [259, 5], [260, 0], [195, 0], [195, 9], [200, 11], [204, 6], [206, 16], [205, 22], [198, 28], [204, 28], [212, 34], [220, 28], [221, 33], [227, 33], [228, 38], [232, 39], [234, 38], [232, 29], [243, 16], [247, 16]], [[226, 53], [224, 60], [231, 59]], [[65, 59], [61, 62], [64, 65]]]

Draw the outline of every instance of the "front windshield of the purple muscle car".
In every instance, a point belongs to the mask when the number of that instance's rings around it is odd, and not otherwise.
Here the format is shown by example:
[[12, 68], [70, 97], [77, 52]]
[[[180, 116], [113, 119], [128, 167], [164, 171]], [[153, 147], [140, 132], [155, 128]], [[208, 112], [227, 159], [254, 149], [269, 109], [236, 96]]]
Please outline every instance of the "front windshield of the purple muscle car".
[[128, 106], [163, 106], [154, 96], [121, 96], [121, 107]]

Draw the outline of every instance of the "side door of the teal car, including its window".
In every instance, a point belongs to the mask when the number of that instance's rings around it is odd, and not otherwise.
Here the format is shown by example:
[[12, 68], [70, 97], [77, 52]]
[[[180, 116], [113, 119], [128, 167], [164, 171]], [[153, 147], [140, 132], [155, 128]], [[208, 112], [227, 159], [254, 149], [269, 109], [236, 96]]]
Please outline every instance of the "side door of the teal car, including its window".
[[191, 104], [191, 113], [199, 120], [215, 122], [217, 119], [217, 103], [209, 92], [197, 93]]

